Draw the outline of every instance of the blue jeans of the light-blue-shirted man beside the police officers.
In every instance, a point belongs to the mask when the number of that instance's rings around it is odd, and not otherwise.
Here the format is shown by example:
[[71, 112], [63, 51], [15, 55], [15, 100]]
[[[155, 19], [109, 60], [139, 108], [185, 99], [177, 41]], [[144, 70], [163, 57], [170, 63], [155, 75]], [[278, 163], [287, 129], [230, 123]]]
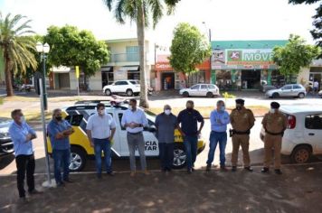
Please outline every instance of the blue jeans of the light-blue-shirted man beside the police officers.
[[225, 165], [226, 157], [225, 157], [225, 149], [227, 144], [227, 133], [217, 133], [213, 132], [210, 134], [209, 138], [210, 144], [209, 144], [209, 153], [208, 153], [208, 161], [207, 165], [211, 165], [213, 163], [213, 155], [216, 150], [217, 144], [219, 143], [219, 151], [220, 151], [220, 163], [221, 166]]

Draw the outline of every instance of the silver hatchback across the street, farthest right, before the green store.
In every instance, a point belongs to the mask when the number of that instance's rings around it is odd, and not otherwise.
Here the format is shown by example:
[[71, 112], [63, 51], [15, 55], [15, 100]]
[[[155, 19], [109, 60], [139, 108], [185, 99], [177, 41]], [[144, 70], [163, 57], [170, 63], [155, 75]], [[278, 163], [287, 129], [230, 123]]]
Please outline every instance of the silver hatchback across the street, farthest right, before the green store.
[[306, 89], [300, 84], [287, 84], [282, 88], [271, 89], [266, 92], [266, 97], [299, 97], [304, 98], [307, 96]]

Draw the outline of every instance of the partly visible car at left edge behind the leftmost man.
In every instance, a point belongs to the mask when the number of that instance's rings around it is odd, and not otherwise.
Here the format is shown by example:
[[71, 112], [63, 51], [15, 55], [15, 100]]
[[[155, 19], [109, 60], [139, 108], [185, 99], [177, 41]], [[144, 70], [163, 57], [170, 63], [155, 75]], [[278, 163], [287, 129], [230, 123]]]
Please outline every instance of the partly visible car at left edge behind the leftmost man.
[[9, 135], [12, 119], [0, 117], [0, 158], [14, 153], [14, 143]]

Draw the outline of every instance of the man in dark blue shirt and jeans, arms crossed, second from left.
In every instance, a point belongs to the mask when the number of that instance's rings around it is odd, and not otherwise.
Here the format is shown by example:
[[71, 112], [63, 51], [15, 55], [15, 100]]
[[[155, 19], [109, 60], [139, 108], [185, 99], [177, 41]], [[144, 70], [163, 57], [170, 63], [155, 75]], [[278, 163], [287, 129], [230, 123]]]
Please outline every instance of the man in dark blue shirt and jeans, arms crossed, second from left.
[[[56, 108], [52, 112], [52, 120], [47, 126], [47, 132], [52, 144], [54, 176], [57, 186], [71, 182], [69, 178], [71, 163], [71, 145], [69, 136], [74, 132], [71, 125], [62, 119], [62, 110]], [[63, 178], [61, 168], [63, 169]], [[62, 181], [63, 180], [63, 181]]]

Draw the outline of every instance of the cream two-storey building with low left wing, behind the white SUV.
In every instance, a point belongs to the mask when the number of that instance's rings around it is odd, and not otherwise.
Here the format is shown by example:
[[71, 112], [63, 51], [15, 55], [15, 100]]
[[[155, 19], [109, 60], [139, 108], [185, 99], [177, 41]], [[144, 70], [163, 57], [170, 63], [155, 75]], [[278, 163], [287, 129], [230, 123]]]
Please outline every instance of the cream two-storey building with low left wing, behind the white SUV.
[[[139, 79], [139, 52], [137, 38], [119, 39], [107, 41], [109, 48], [109, 62], [101, 66], [94, 76], [87, 79], [90, 90], [101, 90], [104, 86], [112, 84], [116, 80]], [[146, 78], [150, 79], [151, 56], [150, 43], [146, 41], [147, 56], [147, 74]], [[152, 58], [152, 60], [151, 60]], [[75, 69], [52, 69], [52, 82], [55, 89], [71, 89], [76, 90], [78, 83], [80, 89], [84, 85], [84, 74], [80, 72], [80, 78], [76, 79]]]

